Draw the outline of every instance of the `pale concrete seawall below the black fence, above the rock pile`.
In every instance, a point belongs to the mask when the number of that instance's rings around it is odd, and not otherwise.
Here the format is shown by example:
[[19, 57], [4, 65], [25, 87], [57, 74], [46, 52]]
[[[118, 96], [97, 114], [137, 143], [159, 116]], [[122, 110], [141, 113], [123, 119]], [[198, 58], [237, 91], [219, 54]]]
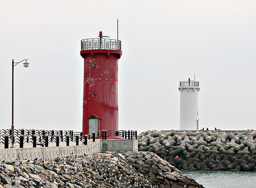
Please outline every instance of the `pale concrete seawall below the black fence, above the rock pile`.
[[0, 149], [0, 161], [13, 161], [23, 159], [45, 158], [52, 159], [58, 156], [70, 156], [74, 155], [91, 155], [95, 152], [101, 151], [138, 151], [138, 140], [126, 140], [126, 139], [112, 139], [102, 140], [96, 139], [95, 142], [89, 140], [87, 145], [84, 145], [81, 141], [78, 146], [75, 142], [70, 142], [70, 146], [65, 146], [66, 143], [60, 143], [60, 146], [56, 147], [49, 145], [49, 147], [32, 147], [27, 145], [24, 148], [8, 148]]

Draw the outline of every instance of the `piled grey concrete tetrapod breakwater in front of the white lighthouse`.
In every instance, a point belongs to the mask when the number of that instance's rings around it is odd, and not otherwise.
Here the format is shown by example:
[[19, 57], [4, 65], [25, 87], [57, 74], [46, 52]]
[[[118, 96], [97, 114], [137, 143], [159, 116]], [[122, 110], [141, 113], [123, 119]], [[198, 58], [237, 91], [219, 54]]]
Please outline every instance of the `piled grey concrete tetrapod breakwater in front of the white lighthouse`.
[[154, 152], [178, 169], [256, 171], [255, 130], [147, 130], [138, 139], [139, 151]]

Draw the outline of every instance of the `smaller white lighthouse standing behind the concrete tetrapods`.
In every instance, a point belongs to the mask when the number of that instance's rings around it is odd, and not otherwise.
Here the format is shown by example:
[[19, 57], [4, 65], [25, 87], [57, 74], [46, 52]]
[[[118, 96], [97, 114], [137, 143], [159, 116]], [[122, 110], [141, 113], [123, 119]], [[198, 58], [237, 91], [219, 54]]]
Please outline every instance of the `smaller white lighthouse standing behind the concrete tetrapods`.
[[180, 130], [198, 130], [199, 90], [199, 82], [190, 78], [180, 82]]

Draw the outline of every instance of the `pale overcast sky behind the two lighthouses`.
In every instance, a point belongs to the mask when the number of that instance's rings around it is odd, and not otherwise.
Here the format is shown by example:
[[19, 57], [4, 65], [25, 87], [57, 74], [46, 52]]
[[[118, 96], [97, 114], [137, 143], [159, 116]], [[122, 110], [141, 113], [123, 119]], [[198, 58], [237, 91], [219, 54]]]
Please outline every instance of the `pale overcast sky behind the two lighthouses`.
[[119, 39], [119, 129], [179, 129], [180, 80], [199, 80], [199, 126], [256, 128], [256, 1], [4, 1], [0, 128], [82, 130], [80, 40]]

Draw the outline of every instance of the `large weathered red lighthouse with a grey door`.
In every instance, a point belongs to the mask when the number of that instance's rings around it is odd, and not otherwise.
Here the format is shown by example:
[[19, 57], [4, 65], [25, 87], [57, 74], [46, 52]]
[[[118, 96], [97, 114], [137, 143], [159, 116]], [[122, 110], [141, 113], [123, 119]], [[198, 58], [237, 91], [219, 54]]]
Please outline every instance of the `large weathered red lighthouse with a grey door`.
[[121, 41], [99, 38], [81, 40], [84, 60], [82, 133], [118, 130], [118, 60]]

